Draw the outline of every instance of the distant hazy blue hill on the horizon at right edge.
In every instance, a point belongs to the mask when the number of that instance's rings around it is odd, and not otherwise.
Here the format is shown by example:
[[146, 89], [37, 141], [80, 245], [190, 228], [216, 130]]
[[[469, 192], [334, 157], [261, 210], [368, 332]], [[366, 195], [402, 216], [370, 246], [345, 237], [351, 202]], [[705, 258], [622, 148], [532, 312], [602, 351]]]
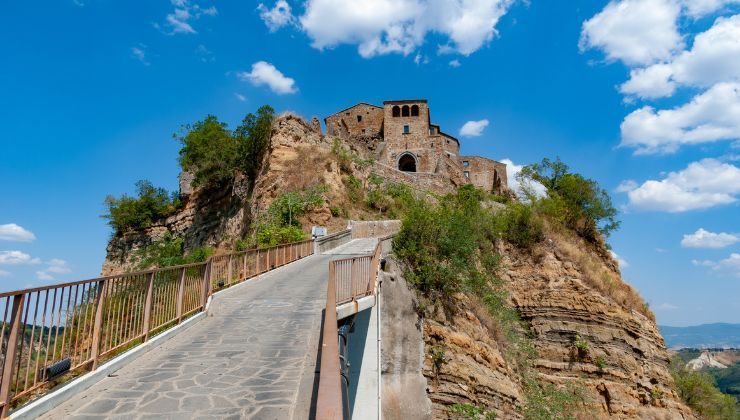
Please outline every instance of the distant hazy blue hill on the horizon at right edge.
[[740, 348], [740, 324], [715, 323], [659, 328], [666, 347], [670, 349]]

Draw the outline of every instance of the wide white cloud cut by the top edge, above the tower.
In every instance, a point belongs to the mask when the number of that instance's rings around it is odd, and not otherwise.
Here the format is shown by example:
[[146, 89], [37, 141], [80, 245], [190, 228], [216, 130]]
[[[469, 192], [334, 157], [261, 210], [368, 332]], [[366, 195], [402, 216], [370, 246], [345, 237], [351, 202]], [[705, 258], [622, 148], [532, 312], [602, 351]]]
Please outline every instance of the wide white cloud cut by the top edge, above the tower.
[[363, 57], [421, 46], [429, 33], [447, 37], [441, 51], [469, 55], [496, 35], [513, 0], [308, 0], [301, 28], [318, 49], [358, 46]]

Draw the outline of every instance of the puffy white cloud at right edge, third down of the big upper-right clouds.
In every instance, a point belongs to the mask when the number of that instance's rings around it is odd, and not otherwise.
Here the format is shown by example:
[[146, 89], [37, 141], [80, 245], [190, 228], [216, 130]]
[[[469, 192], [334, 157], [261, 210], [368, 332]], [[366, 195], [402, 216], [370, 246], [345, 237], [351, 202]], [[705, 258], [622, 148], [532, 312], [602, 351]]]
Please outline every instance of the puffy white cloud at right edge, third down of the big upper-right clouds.
[[627, 115], [620, 128], [620, 146], [634, 147], [637, 154], [740, 139], [740, 83], [719, 83], [674, 109], [644, 106]]

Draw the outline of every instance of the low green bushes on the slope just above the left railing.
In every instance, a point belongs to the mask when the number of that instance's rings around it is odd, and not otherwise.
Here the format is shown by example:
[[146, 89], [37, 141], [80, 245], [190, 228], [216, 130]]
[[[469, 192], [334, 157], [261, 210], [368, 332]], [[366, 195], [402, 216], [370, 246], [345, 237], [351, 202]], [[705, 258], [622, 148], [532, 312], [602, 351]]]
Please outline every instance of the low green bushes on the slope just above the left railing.
[[152, 267], [171, 267], [173, 265], [203, 262], [213, 255], [213, 248], [200, 247], [185, 253], [182, 238], [174, 238], [167, 233], [161, 241], [134, 252], [134, 259], [139, 260], [139, 269]]

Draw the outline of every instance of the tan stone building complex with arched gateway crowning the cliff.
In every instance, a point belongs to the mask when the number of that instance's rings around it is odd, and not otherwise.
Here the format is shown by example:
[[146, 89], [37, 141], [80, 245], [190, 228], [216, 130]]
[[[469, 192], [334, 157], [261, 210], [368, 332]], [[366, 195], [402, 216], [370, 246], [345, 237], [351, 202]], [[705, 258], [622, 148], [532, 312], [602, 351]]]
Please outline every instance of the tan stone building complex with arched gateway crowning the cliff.
[[[473, 184], [486, 191], [507, 189], [506, 165], [480, 156], [460, 156], [460, 142], [432, 124], [425, 99], [358, 103], [324, 118], [327, 136], [374, 140], [378, 165], [404, 172], [427, 186]], [[434, 188], [440, 189], [440, 188]]]

